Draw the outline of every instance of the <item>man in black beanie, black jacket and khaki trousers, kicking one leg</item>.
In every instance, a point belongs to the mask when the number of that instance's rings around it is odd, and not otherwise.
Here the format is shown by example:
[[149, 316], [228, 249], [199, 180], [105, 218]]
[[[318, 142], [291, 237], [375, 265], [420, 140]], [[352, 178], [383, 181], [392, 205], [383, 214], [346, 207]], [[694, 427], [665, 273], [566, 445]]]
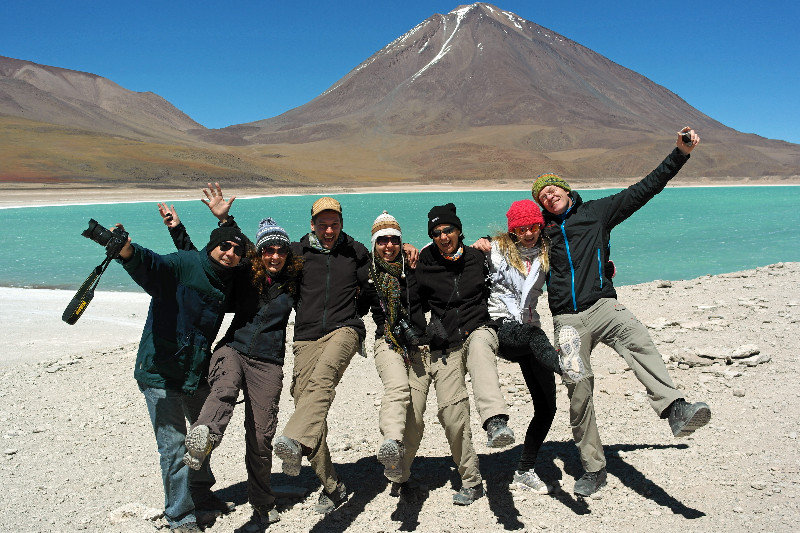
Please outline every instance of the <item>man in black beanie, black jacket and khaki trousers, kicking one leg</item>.
[[437, 397], [449, 396], [444, 405], [441, 401], [439, 405], [445, 428], [452, 427], [453, 420], [464, 421], [460, 431], [446, 430], [446, 433], [463, 483], [453, 501], [469, 505], [483, 495], [483, 485], [469, 429], [469, 399], [463, 386], [466, 371], [472, 377], [475, 405], [487, 432], [487, 445], [509, 446], [514, 443], [514, 433], [506, 424], [508, 411], [497, 375], [497, 332], [489, 325], [485, 257], [464, 246], [461, 219], [452, 203], [430, 210], [428, 236], [434, 246], [426, 246], [420, 253], [416, 278], [423, 308], [431, 311], [431, 323], [441, 324], [438, 329], [443, 330], [439, 338], [434, 336], [430, 341], [431, 367], [436, 371], [438, 365], [439, 372], [447, 369], [448, 373], [461, 374], [461, 386], [454, 387], [449, 394], [437, 390]]

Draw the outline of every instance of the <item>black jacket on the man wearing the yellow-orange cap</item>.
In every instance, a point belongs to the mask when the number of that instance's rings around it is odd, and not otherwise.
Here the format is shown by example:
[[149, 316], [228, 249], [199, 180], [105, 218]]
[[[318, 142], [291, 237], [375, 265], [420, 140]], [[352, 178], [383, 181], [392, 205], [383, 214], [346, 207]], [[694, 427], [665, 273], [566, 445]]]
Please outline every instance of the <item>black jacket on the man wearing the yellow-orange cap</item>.
[[366, 247], [342, 232], [329, 253], [312, 247], [308, 235], [292, 243], [292, 253], [303, 258], [297, 299], [294, 340], [315, 341], [328, 333], [351, 327], [363, 340], [361, 319], [374, 298], [369, 283], [370, 256]]

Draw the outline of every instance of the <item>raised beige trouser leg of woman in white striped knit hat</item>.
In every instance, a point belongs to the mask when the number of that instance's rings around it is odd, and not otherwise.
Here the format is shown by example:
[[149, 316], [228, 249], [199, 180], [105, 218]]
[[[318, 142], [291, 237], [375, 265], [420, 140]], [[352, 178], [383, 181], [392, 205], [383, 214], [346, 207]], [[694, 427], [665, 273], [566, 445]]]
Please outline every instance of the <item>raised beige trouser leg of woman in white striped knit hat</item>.
[[383, 383], [378, 427], [384, 439], [402, 442], [411, 404], [408, 366], [402, 354], [394, 351], [385, 339], [378, 338], [375, 339], [375, 368]]

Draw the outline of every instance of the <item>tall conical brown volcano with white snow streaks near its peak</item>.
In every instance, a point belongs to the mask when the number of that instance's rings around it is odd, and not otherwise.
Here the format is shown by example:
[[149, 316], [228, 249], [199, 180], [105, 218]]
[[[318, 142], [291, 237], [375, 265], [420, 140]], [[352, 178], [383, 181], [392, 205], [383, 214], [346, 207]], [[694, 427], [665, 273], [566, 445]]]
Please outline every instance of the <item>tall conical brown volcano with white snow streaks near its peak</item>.
[[684, 173], [800, 174], [797, 145], [728, 128], [644, 76], [483, 3], [428, 18], [303, 106], [222, 131], [298, 145], [299, 154], [338, 146], [362, 166], [374, 161], [378, 177], [391, 162], [414, 179], [542, 169], [590, 178], [646, 172], [653, 161], [643, 155], [663, 154], [685, 124], [701, 132], [703, 150]]

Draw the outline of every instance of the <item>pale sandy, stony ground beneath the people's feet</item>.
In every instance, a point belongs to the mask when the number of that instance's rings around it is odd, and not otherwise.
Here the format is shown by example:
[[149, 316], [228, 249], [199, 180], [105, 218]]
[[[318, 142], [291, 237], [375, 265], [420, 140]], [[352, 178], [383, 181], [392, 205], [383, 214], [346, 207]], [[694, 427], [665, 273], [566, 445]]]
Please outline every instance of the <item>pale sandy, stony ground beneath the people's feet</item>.
[[[581, 472], [563, 386], [537, 467], [561, 492], [536, 496], [510, 487], [521, 446], [487, 448], [473, 409], [488, 495], [470, 507], [453, 506], [458, 476], [431, 398], [414, 464], [427, 497], [419, 504], [391, 497], [374, 456], [381, 385], [372, 358], [356, 356], [328, 419], [350, 500], [331, 515], [315, 514], [319, 485], [308, 465], [299, 478], [288, 478], [276, 460], [273, 486], [289, 496], [270, 530], [794, 531], [800, 520], [799, 284], [800, 263], [785, 263], [619, 290], [650, 328], [677, 385], [690, 400], [708, 402], [713, 417], [694, 436], [674, 439], [624, 361], [598, 347], [595, 402], [609, 484], [586, 501], [572, 495]], [[60, 317], [70, 292], [2, 289], [0, 296], [0, 530], [147, 533], [165, 527], [155, 439], [132, 376], [147, 299], [100, 293], [78, 324], [67, 326]], [[551, 324], [544, 302], [539, 310]], [[291, 365], [288, 351], [287, 376]], [[527, 390], [516, 365], [500, 361], [498, 367], [510, 425], [521, 441], [532, 414]], [[289, 381], [279, 432], [292, 412]], [[250, 514], [242, 423], [238, 408], [212, 461], [215, 489], [237, 508], [210, 532], [235, 531]]]

